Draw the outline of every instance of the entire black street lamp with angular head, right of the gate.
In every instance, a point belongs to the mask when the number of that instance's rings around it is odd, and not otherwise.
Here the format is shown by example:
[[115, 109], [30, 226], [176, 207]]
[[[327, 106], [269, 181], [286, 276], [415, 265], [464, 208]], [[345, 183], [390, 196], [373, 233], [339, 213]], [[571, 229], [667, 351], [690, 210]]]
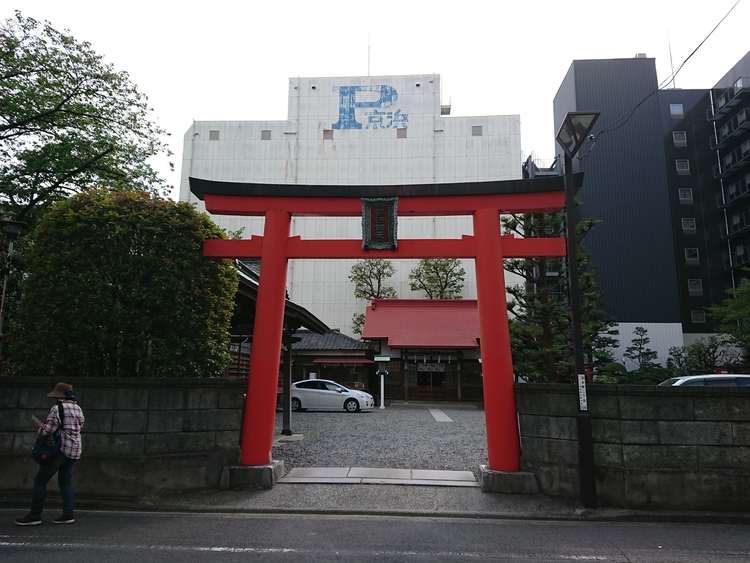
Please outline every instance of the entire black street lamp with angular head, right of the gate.
[[581, 503], [596, 508], [596, 473], [594, 470], [594, 439], [591, 432], [586, 395], [586, 373], [583, 358], [583, 330], [581, 328], [581, 289], [578, 283], [578, 241], [575, 225], [575, 190], [573, 187], [573, 157], [588, 137], [600, 112], [568, 112], [557, 132], [557, 144], [565, 153], [565, 229], [568, 255], [568, 299], [573, 332], [573, 360], [578, 379], [578, 474]]

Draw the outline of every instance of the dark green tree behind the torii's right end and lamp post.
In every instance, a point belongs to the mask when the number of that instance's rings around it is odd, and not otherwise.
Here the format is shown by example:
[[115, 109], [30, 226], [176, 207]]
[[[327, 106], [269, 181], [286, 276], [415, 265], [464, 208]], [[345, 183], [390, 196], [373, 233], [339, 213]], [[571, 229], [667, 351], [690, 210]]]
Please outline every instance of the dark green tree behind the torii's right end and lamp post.
[[[588, 363], [608, 362], [617, 346], [614, 322], [602, 308], [602, 295], [590, 254], [583, 245], [596, 220], [576, 225], [581, 294], [581, 328]], [[502, 218], [503, 233], [520, 237], [560, 237], [564, 213], [520, 214]], [[515, 373], [528, 380], [560, 381], [575, 371], [567, 262], [562, 258], [506, 259], [505, 269], [522, 279], [506, 288]]]

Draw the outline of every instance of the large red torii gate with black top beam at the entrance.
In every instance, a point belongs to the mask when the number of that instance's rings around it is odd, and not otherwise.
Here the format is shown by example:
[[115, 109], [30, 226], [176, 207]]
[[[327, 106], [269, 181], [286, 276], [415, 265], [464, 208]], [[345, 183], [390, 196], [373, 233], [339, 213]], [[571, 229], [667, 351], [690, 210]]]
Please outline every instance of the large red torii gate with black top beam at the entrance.
[[[518, 471], [520, 440], [505, 301], [503, 258], [562, 257], [564, 238], [501, 235], [502, 213], [547, 213], [565, 206], [562, 176], [527, 180], [401, 186], [249, 184], [190, 178], [206, 210], [265, 217], [263, 236], [207, 240], [208, 258], [261, 260], [253, 347], [242, 422], [240, 464], [271, 463], [277, 378], [284, 326], [287, 264], [293, 258], [473, 258], [489, 467]], [[293, 215], [361, 217], [363, 198], [398, 197], [401, 217], [470, 215], [474, 235], [402, 239], [397, 249], [365, 250], [362, 240], [302, 240], [290, 236]]]

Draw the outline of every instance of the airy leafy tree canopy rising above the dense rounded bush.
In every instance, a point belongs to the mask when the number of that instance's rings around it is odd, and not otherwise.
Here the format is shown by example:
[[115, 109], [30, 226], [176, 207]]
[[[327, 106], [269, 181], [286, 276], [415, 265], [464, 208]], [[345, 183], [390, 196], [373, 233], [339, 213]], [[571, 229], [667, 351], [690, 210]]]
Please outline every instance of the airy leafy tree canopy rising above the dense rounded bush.
[[55, 201], [89, 189], [168, 186], [148, 160], [170, 155], [146, 96], [67, 31], [20, 12], [0, 22], [0, 207], [38, 221]]

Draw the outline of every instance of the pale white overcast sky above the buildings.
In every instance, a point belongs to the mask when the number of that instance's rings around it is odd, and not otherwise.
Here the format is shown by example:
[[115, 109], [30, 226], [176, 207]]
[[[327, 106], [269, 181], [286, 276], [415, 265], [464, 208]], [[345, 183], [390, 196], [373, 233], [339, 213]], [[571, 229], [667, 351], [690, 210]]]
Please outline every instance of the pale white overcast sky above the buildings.
[[12, 4], [0, 15], [20, 9], [68, 29], [130, 74], [171, 133], [175, 172], [156, 166], [175, 188], [193, 120], [286, 119], [292, 76], [440, 74], [452, 115], [518, 114], [524, 156], [551, 159], [552, 100], [574, 59], [646, 53], [664, 81], [735, 4], [675, 86], [711, 87], [750, 50], [750, 0]]

